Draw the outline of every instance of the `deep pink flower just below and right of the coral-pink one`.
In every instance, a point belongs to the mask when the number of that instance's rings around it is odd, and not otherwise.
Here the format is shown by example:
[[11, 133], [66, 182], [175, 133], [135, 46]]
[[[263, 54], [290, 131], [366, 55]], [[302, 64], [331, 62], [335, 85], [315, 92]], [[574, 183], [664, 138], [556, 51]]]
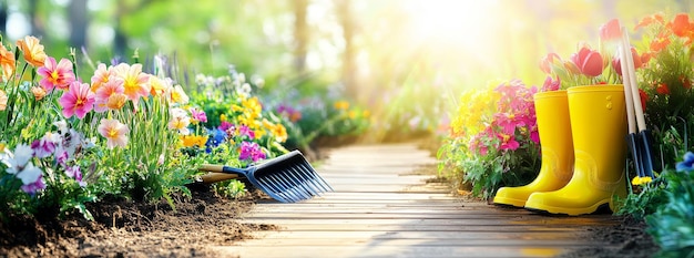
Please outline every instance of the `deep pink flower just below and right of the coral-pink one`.
[[70, 118], [72, 115], [84, 118], [88, 112], [94, 109], [94, 93], [86, 83], [74, 81], [69, 90], [60, 97], [63, 115]]

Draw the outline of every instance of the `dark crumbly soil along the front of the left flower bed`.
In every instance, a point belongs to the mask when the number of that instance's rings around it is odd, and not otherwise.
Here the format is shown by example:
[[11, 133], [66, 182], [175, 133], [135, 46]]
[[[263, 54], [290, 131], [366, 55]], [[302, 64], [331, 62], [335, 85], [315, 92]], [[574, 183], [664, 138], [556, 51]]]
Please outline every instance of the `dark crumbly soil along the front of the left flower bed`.
[[229, 200], [204, 188], [175, 198], [175, 211], [165, 202], [104, 199], [89, 206], [94, 221], [79, 214], [13, 218], [0, 224], [0, 257], [216, 257], [210, 246], [276, 228], [238, 220], [259, 198], [254, 190]]

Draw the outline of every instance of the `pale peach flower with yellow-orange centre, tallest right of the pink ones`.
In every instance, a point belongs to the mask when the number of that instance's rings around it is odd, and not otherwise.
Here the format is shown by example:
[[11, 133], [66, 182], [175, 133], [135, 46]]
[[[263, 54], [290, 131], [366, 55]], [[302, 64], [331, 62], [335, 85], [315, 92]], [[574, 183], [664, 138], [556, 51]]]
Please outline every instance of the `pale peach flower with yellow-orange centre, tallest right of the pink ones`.
[[142, 64], [121, 63], [113, 68], [113, 73], [123, 80], [124, 93], [132, 102], [137, 103], [140, 97], [150, 95], [150, 75], [142, 72]]

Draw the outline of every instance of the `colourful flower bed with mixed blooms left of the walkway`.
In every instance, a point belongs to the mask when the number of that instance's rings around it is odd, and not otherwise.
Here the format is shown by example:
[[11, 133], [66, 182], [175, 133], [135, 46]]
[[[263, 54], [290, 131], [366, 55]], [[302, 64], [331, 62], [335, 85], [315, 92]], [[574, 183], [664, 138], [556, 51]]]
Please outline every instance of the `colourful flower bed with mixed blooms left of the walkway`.
[[[3, 224], [75, 213], [91, 220], [88, 204], [104, 199], [164, 199], [175, 211], [178, 198], [191, 197], [186, 185], [201, 164], [245, 167], [297, 147], [288, 142], [315, 140], [305, 135], [359, 134], [368, 126], [368, 111], [346, 101], [317, 107], [329, 111], [319, 117], [265, 106], [255, 93], [262, 80], [247, 82], [235, 70], [186, 85], [187, 75], [163, 55], [146, 66], [135, 54], [132, 63], [85, 60], [78, 68], [74, 50], [58, 60], [34, 37], [16, 45], [0, 48]], [[333, 127], [302, 127], [309, 118]], [[239, 180], [212, 187], [226, 197], [247, 192]]]

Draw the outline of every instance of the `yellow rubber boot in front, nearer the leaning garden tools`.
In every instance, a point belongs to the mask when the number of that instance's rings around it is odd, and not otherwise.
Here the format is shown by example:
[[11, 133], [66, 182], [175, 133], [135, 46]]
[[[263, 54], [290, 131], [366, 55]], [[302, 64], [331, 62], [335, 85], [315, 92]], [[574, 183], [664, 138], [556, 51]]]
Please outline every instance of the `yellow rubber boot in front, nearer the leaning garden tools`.
[[525, 208], [551, 214], [594, 213], [614, 195], [626, 196], [626, 109], [622, 85], [568, 90], [574, 147], [573, 177], [559, 190], [534, 193]]

